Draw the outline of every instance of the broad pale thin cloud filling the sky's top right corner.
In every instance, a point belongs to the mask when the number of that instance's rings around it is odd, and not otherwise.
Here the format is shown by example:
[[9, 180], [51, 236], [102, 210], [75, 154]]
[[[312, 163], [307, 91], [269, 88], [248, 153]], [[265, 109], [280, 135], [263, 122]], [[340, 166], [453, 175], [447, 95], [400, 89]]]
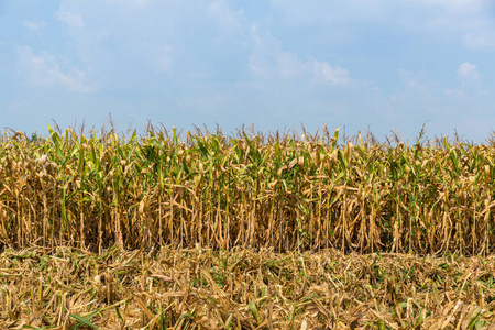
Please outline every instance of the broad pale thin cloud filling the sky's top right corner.
[[425, 37], [452, 38], [466, 47], [495, 47], [491, 0], [307, 0], [304, 6], [298, 1], [268, 1], [284, 24], [312, 26], [311, 37], [327, 42], [351, 43], [366, 36], [369, 29], [349, 30], [358, 23], [370, 24], [370, 30], [387, 26]]

